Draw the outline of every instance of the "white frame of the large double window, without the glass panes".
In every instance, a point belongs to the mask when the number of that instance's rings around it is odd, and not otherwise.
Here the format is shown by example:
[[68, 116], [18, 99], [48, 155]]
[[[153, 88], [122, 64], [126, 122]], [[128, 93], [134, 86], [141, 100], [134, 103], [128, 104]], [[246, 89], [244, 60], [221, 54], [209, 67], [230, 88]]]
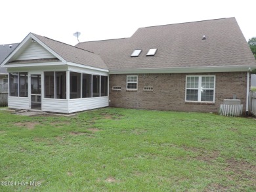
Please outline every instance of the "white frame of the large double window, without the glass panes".
[[[198, 100], [197, 101], [186, 100], [186, 91], [185, 91], [185, 102], [215, 103], [216, 75], [186, 75], [186, 85], [187, 85], [188, 77], [198, 77], [198, 88], [187, 88], [186, 87], [186, 90], [188, 90], [188, 89], [198, 90]], [[202, 77], [214, 77], [214, 88], [203, 88], [202, 87]], [[201, 101], [202, 90], [213, 90], [213, 101], [212, 102], [210, 102], [210, 101]]]

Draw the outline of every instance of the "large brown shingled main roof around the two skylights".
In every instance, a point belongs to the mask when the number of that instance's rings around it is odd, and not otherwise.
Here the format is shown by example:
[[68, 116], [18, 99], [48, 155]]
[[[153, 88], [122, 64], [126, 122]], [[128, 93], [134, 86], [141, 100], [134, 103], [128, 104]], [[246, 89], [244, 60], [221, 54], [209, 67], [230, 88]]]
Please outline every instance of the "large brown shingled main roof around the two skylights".
[[[256, 65], [235, 18], [139, 28], [130, 38], [76, 47], [99, 54], [110, 70]], [[155, 56], [146, 56], [150, 48], [158, 48]], [[135, 49], [142, 52], [131, 57]]]

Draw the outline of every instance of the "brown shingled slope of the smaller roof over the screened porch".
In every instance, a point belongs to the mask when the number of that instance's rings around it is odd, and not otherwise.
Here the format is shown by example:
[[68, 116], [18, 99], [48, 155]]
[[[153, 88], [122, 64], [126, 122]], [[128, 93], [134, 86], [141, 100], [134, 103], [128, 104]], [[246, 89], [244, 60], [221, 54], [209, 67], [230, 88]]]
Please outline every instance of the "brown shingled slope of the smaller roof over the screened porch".
[[103, 60], [98, 54], [94, 54], [93, 52], [90, 52], [83, 48], [77, 48], [66, 43], [61, 43], [59, 41], [49, 39], [48, 37], [36, 35], [35, 33], [32, 34], [35, 35], [35, 37], [37, 37], [45, 45], [47, 45], [47, 47], [51, 48], [51, 50], [64, 58], [64, 60], [66, 60], [67, 62], [97, 67], [100, 69], [108, 69], [108, 67], [106, 66], [106, 64], [104, 64]]

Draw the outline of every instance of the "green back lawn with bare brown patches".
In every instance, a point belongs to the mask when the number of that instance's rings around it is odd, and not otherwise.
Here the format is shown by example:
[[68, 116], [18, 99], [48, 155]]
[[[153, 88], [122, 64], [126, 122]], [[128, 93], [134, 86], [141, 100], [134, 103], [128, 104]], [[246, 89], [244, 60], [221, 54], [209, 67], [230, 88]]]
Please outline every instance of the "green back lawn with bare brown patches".
[[104, 108], [0, 119], [0, 191], [256, 190], [252, 118]]

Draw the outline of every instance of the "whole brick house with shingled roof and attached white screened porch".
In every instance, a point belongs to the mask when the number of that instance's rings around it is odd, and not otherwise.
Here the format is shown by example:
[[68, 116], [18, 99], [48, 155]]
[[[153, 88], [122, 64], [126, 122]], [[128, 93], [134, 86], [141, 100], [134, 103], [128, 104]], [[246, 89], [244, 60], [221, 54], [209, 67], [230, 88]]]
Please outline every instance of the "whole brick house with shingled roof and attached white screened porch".
[[66, 45], [34, 33], [5, 59], [9, 107], [73, 113], [98, 107], [248, 111], [256, 62], [235, 18], [139, 28], [131, 37]]

